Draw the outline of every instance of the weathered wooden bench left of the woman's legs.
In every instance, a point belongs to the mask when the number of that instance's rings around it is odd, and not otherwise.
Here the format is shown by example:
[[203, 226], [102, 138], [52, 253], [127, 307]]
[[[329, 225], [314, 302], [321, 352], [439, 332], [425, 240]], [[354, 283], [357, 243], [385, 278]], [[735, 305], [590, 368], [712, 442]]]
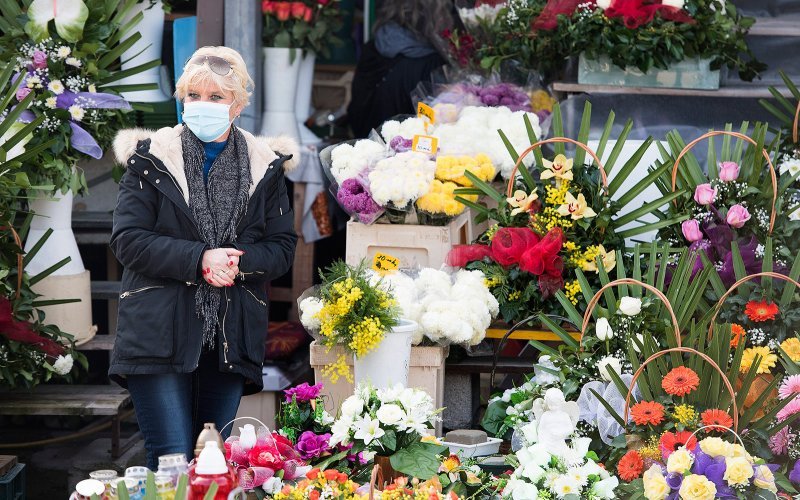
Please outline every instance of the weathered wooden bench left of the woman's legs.
[[[29, 392], [0, 391], [0, 415], [75, 415], [101, 417], [83, 430], [111, 423], [111, 457], [116, 459], [139, 439], [136, 432], [120, 443], [123, 410], [131, 404], [128, 391], [114, 385], [40, 385]], [[126, 412], [128, 413], [128, 412]]]

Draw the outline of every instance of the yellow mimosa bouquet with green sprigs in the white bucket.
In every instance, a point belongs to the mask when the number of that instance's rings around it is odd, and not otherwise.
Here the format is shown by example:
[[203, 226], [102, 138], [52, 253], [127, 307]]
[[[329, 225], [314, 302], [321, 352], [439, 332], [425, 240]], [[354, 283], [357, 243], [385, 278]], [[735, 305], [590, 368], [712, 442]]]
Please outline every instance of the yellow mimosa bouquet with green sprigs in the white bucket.
[[[370, 279], [364, 262], [350, 266], [337, 261], [320, 276], [322, 284], [304, 293], [299, 308], [303, 325], [328, 349], [342, 346], [356, 357], [364, 356], [398, 324], [396, 300], [380, 280]], [[344, 374], [350, 379], [344, 355], [324, 371], [326, 377], [338, 374], [338, 380]]]

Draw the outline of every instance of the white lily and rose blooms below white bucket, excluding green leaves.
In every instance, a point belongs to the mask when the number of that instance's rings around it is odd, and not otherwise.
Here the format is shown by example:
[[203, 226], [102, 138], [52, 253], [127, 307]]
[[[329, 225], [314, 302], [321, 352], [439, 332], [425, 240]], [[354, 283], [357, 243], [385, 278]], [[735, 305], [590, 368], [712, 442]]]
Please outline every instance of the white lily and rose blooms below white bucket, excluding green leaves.
[[[389, 433], [396, 439], [411, 443], [438, 420], [433, 398], [420, 389], [398, 384], [378, 389], [359, 384], [355, 393], [342, 403], [339, 417], [331, 428], [330, 445], [363, 444], [365, 451], [385, 453], [389, 450], [383, 438]], [[399, 449], [399, 447], [397, 448]]]

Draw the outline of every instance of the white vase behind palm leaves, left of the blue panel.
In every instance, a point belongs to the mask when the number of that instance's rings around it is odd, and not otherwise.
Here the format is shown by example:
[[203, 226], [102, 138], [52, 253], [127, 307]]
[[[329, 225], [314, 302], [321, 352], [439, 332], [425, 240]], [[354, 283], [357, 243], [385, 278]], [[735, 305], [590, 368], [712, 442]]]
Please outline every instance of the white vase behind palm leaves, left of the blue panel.
[[[153, 4], [152, 7], [147, 8], [150, 6], [150, 2], [137, 3], [123, 21], [123, 24], [127, 23], [139, 12], [144, 16], [141, 22], [136, 25], [135, 30], [141, 33], [142, 37], [134, 43], [131, 48], [122, 53], [121, 60], [123, 70], [161, 58], [161, 45], [164, 36], [163, 2], [162, 0], [155, 0]], [[119, 85], [136, 85], [142, 83], [156, 83], [159, 88], [154, 90], [123, 92], [122, 96], [125, 100], [131, 102], [162, 102], [169, 100], [170, 96], [162, 90], [164, 88], [164, 83], [161, 77], [161, 66], [150, 68], [119, 81]]]

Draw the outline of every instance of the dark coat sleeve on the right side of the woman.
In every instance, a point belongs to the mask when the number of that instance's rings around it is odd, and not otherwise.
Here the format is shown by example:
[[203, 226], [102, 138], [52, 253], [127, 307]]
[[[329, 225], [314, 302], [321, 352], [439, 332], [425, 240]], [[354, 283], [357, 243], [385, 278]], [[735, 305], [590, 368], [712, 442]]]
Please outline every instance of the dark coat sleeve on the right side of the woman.
[[[286, 180], [281, 169], [270, 188], [265, 205], [266, 230], [261, 241], [237, 243], [244, 255], [239, 259], [239, 271], [252, 273], [253, 280], [271, 281], [289, 271], [294, 262], [297, 233], [294, 230], [294, 212], [286, 192]], [[249, 276], [245, 279], [251, 279]]]

